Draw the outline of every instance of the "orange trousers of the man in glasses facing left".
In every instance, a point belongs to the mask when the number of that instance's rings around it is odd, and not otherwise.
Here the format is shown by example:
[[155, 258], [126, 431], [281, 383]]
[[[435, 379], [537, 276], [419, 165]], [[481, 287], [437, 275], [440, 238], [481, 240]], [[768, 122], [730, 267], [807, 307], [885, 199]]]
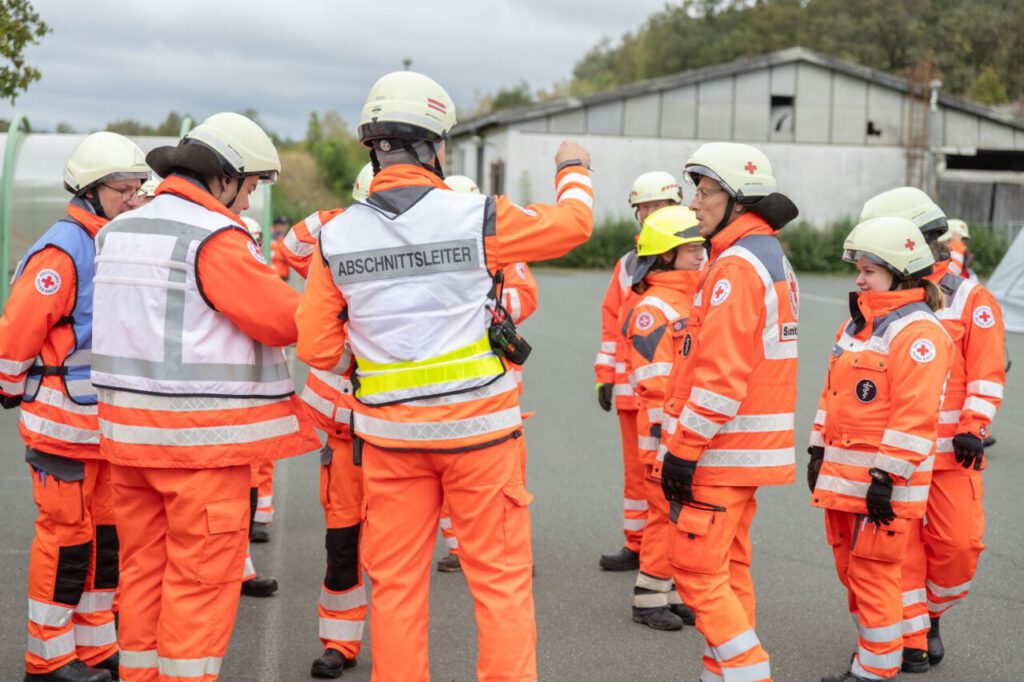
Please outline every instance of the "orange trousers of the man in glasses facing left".
[[709, 679], [771, 679], [768, 652], [754, 631], [751, 523], [758, 508], [757, 489], [694, 485], [694, 500], [725, 511], [686, 505], [670, 530], [673, 578], [708, 642], [703, 665]]

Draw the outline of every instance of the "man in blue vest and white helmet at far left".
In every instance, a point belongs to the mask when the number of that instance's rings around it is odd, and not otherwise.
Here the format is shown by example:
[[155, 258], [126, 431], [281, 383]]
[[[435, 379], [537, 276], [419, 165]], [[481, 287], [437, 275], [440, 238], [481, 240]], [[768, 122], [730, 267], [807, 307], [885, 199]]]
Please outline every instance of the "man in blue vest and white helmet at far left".
[[89, 383], [93, 238], [137, 206], [148, 175], [129, 139], [100, 132], [82, 140], [65, 169], [68, 214], [22, 259], [0, 317], [0, 401], [20, 404], [39, 509], [25, 655], [32, 682], [103, 682], [117, 672], [118, 534]]

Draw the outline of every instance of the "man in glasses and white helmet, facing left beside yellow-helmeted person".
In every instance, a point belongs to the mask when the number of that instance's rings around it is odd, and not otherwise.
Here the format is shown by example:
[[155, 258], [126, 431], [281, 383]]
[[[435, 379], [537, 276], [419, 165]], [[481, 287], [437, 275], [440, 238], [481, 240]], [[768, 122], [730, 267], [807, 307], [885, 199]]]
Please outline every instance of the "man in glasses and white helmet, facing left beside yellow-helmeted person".
[[711, 244], [662, 427], [662, 487], [676, 503], [669, 562], [708, 641], [705, 677], [768, 680], [750, 528], [758, 487], [794, 480], [799, 293], [774, 235], [797, 207], [746, 144], [703, 144], [684, 173]]

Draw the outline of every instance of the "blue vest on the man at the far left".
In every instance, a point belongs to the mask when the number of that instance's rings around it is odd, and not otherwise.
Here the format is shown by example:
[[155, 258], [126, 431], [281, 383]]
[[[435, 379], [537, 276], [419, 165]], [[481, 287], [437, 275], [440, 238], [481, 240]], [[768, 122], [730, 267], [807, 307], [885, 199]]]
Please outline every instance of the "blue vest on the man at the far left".
[[32, 402], [39, 393], [42, 379], [47, 375], [60, 377], [65, 393], [77, 404], [96, 404], [96, 391], [89, 381], [89, 363], [92, 354], [92, 279], [95, 274], [96, 247], [92, 237], [71, 217], [58, 220], [26, 252], [18, 265], [16, 280], [25, 263], [47, 247], [56, 247], [75, 262], [75, 308], [71, 318], [61, 321], [75, 331], [75, 345], [57, 365], [48, 366], [37, 357], [29, 368], [25, 381], [25, 402]]

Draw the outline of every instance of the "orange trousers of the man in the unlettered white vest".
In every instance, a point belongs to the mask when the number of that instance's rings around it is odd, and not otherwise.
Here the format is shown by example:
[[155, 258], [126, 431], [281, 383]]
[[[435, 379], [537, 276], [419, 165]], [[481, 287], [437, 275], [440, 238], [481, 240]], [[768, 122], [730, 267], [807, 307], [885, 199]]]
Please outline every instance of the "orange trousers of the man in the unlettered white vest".
[[122, 574], [121, 679], [212, 682], [234, 626], [249, 465], [112, 465]]

